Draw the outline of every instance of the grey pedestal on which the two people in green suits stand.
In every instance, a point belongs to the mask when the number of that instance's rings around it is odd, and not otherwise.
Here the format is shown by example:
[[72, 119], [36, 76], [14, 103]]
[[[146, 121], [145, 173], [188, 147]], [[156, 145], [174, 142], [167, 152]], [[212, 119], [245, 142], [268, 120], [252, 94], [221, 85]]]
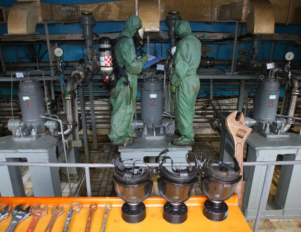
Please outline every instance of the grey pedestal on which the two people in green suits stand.
[[[132, 163], [135, 160], [143, 160], [144, 157], [158, 156], [161, 151], [168, 148], [168, 156], [170, 156], [174, 162], [186, 162], [186, 154], [192, 150], [191, 146], [176, 146], [172, 144], [172, 140], [176, 138], [175, 135], [166, 135], [160, 140], [145, 140], [141, 136], [135, 139], [132, 145], [123, 147], [119, 146], [118, 151], [122, 160], [126, 160], [124, 163]], [[155, 162], [155, 160], [153, 160]]]

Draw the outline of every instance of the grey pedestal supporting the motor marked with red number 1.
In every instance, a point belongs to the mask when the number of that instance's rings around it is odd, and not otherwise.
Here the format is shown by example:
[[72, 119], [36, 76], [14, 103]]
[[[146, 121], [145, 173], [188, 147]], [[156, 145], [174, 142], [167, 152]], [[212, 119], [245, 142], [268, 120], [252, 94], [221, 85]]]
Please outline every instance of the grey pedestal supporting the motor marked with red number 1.
[[[57, 139], [41, 136], [30, 142], [16, 142], [13, 136], [0, 138], [0, 161], [55, 163]], [[58, 167], [29, 167], [35, 196], [62, 196]], [[20, 167], [0, 166], [1, 196], [25, 196]]]

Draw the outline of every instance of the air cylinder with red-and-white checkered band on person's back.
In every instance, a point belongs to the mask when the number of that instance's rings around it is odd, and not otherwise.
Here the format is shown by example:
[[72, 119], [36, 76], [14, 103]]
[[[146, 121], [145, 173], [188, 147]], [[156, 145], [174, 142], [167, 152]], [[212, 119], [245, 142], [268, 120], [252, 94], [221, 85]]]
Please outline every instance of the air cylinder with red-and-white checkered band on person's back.
[[108, 37], [101, 37], [99, 40], [100, 73], [109, 77], [113, 73], [113, 51], [112, 42]]

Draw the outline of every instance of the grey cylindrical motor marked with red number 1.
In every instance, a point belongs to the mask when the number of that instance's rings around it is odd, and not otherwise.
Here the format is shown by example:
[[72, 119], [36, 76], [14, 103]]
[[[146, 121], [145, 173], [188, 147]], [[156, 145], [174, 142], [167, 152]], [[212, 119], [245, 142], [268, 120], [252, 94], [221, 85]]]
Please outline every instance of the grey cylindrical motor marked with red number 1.
[[22, 119], [27, 126], [33, 125], [34, 127], [41, 124], [45, 116], [45, 103], [43, 90], [40, 81], [35, 79], [24, 79], [19, 83], [19, 102], [22, 112]]

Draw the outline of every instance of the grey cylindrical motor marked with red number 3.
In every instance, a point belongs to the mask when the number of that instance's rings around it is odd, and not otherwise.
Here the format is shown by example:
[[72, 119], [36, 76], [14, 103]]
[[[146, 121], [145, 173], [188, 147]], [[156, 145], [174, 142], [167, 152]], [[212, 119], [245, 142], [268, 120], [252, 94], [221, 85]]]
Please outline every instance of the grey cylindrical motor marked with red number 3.
[[262, 122], [274, 121], [279, 100], [279, 81], [271, 78], [258, 80], [255, 90], [253, 118]]

